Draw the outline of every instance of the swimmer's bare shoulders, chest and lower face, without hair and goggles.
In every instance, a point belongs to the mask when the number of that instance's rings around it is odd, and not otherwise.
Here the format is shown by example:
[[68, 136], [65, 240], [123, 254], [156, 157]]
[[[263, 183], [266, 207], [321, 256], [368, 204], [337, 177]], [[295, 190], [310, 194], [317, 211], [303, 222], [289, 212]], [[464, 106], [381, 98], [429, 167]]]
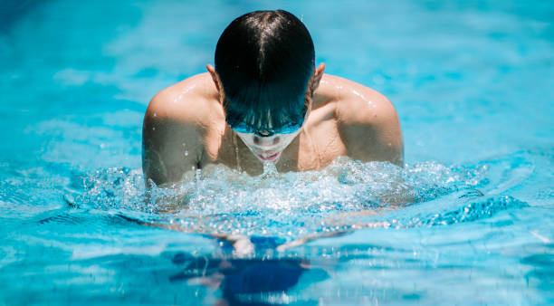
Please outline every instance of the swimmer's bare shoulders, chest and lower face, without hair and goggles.
[[143, 125], [147, 181], [176, 183], [214, 164], [250, 175], [263, 173], [263, 161], [274, 162], [280, 172], [316, 170], [339, 156], [401, 166], [403, 140], [392, 103], [323, 70], [320, 65], [315, 72], [320, 77], [301, 129], [267, 138], [241, 135], [225, 122], [224, 93], [210, 66], [210, 73], [160, 91], [150, 101]]

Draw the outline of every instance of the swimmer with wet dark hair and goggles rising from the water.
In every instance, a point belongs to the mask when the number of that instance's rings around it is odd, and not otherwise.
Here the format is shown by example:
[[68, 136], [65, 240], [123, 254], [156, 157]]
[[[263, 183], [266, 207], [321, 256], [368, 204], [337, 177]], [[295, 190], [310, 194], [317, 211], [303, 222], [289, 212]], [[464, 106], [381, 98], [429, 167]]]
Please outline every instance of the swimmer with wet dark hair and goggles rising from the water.
[[385, 96], [324, 74], [310, 33], [293, 14], [256, 11], [229, 24], [215, 67], [150, 101], [142, 168], [158, 186], [223, 164], [250, 175], [317, 170], [339, 156], [403, 165], [402, 132]]

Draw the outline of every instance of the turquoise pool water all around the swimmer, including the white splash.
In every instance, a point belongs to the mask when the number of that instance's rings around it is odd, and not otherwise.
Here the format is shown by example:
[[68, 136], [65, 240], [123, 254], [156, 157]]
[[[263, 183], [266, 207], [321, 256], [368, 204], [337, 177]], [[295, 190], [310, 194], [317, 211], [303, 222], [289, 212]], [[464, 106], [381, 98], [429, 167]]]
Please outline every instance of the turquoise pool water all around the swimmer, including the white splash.
[[[148, 100], [262, 8], [301, 16], [327, 72], [393, 101], [406, 167], [217, 167], [145, 194]], [[552, 15], [543, 1], [7, 1], [0, 304], [553, 302]]]

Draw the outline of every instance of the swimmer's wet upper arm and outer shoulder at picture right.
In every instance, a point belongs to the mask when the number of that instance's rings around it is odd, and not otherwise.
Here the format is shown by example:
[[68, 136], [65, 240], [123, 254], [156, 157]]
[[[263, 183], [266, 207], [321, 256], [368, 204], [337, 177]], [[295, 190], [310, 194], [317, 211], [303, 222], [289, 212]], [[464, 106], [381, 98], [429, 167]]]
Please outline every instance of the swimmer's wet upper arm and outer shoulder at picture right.
[[367, 99], [340, 101], [339, 133], [349, 158], [389, 161], [404, 165], [404, 142], [392, 103], [377, 91], [366, 89]]

